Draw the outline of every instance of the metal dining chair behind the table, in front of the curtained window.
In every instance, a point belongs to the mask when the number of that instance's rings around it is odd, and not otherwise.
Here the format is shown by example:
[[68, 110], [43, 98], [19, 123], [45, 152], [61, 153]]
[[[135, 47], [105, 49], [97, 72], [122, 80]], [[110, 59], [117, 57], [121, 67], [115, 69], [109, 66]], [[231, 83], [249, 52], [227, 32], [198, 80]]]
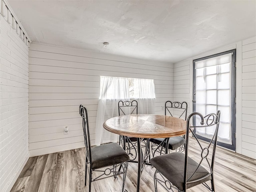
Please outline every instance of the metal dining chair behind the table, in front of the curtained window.
[[[138, 114], [138, 102], [133, 101], [122, 101], [118, 102], [118, 115], [132, 115]], [[129, 136], [119, 136], [119, 144], [130, 156], [130, 161], [134, 161], [137, 157], [137, 138]]]

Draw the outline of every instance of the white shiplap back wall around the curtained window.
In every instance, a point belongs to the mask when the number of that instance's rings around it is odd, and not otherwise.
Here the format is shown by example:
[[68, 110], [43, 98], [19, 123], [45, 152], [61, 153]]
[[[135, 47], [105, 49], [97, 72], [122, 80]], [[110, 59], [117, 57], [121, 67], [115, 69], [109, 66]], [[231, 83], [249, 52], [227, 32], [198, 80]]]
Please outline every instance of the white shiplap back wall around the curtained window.
[[[30, 156], [84, 146], [78, 106], [88, 109], [92, 144], [100, 76], [154, 79], [156, 114], [173, 97], [173, 64], [32, 44], [29, 51]], [[69, 134], [64, 134], [64, 126]]]

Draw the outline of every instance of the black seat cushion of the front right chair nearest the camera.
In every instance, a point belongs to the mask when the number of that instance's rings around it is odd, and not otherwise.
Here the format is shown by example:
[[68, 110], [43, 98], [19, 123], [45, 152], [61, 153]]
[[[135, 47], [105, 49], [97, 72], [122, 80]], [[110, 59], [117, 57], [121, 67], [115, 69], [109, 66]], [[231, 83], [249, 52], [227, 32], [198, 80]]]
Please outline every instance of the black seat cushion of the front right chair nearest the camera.
[[[150, 159], [150, 163], [179, 190], [183, 190], [184, 162], [185, 154], [180, 152], [160, 155]], [[192, 176], [197, 167], [198, 163], [188, 157], [187, 179]], [[197, 180], [208, 174], [209, 172], [204, 167], [199, 166], [190, 181]], [[212, 176], [209, 175], [202, 180], [187, 184], [187, 189], [211, 180], [211, 178]]]

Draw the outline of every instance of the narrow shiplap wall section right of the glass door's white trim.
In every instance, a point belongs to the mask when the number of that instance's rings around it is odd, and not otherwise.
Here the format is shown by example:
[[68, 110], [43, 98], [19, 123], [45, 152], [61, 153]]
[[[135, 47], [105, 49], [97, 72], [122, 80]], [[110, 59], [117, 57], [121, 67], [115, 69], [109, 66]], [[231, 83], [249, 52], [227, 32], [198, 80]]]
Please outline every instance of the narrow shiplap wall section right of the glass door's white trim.
[[242, 41], [242, 154], [256, 159], [256, 36]]

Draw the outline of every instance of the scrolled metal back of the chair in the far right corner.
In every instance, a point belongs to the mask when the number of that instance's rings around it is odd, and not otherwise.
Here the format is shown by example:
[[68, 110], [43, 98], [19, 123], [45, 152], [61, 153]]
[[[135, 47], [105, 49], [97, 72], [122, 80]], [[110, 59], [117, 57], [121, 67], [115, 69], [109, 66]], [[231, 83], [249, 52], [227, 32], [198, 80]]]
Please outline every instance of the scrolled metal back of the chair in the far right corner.
[[171, 102], [171, 101], [166, 101], [165, 102], [165, 115], [170, 114], [173, 117], [173, 114], [170, 109], [177, 109], [181, 111], [182, 113], [178, 115], [178, 118], [181, 118], [182, 115], [184, 114], [185, 120], [187, 119], [187, 110], [188, 110], [188, 104], [186, 102]]

